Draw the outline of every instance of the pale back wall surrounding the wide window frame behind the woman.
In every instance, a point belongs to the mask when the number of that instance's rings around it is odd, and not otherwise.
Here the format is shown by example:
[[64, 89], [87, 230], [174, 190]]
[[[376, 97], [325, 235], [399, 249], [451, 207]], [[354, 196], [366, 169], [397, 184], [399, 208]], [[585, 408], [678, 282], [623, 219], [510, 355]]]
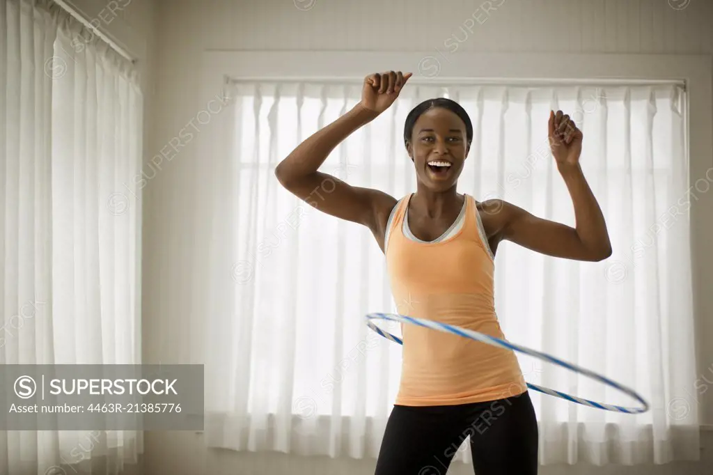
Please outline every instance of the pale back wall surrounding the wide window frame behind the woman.
[[[134, 0], [138, 1], [138, 0]], [[689, 3], [690, 2], [690, 3]], [[495, 2], [496, 4], [498, 2]], [[312, 6], [308, 10], [295, 7]], [[148, 112], [145, 158], [177, 136], [205, 105], [200, 104], [200, 61], [206, 49], [424, 51], [439, 48], [473, 15], [481, 0], [158, 0], [155, 19], [155, 108]], [[682, 10], [670, 6], [686, 5]], [[568, 53], [713, 53], [713, 2], [704, 0], [506, 0], [485, 24], [476, 24], [458, 51]], [[458, 53], [450, 56], [457, 61]], [[305, 65], [307, 68], [309, 65]], [[414, 65], [414, 69], [416, 65]], [[368, 73], [369, 71], [364, 71]], [[713, 86], [713, 85], [712, 85]], [[713, 115], [713, 111], [711, 111]], [[713, 131], [710, 131], [713, 133]], [[144, 188], [144, 362], [193, 361], [188, 256], [192, 247], [189, 164], [201, 160], [196, 141], [164, 161]], [[706, 168], [713, 157], [704, 160]], [[699, 374], [713, 364], [713, 219], [694, 210]], [[696, 219], [698, 217], [698, 219]], [[705, 252], [705, 253], [704, 253]], [[193, 355], [195, 357], [195, 355]], [[200, 358], [199, 358], [200, 359]], [[705, 394], [704, 417], [713, 424], [713, 391]], [[153, 432], [145, 438], [147, 473], [163, 474], [369, 474], [374, 461], [297, 459], [282, 454], [206, 451], [202, 436]], [[663, 467], [543, 467], [543, 474], [711, 474], [713, 432], [704, 432], [701, 464]], [[706, 468], [704, 468], [706, 467]], [[453, 473], [469, 473], [458, 464]]]

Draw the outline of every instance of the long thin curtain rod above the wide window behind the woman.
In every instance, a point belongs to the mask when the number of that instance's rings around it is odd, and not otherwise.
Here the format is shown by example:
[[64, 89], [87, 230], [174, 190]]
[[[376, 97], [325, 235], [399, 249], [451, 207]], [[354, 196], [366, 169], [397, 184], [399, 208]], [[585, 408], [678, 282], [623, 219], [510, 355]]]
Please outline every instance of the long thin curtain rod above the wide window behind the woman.
[[[252, 82], [280, 82], [280, 83], [336, 83], [336, 84], [361, 84], [364, 78], [319, 78], [296, 77], [269, 78], [269, 77], [240, 77], [225, 76], [225, 82], [252, 83]], [[409, 84], [419, 86], [450, 86], [468, 84], [473, 86], [679, 86], [686, 90], [686, 81], [683, 79], [552, 79], [552, 78], [421, 78], [413, 76]]]

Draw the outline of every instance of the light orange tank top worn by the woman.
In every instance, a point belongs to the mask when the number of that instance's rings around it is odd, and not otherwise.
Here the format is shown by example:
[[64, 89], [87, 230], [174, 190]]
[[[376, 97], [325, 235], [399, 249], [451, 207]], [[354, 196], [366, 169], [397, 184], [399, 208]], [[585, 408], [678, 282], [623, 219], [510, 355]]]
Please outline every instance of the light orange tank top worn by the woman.
[[[404, 235], [412, 195], [394, 208], [386, 240], [386, 267], [399, 313], [504, 339], [495, 312], [495, 265], [476, 201], [465, 195], [460, 228], [424, 242]], [[510, 350], [417, 325], [401, 325], [401, 334], [396, 404], [468, 404], [527, 390]]]

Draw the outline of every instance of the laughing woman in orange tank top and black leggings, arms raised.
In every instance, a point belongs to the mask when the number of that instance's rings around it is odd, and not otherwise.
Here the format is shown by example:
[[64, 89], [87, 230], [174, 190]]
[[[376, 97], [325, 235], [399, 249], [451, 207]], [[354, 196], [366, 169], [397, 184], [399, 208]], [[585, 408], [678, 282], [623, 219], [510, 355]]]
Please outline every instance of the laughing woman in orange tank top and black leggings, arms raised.
[[[605, 220], [579, 165], [582, 133], [569, 116], [550, 112], [551, 149], [573, 200], [575, 228], [503, 200], [480, 203], [459, 194], [473, 126], [445, 98], [419, 104], [406, 118], [416, 193], [396, 200], [319, 172], [339, 143], [394, 103], [410, 77], [401, 71], [367, 76], [361, 103], [307, 138], [275, 174], [303, 200], [325, 180], [336, 183], [318, 208], [371, 230], [386, 256], [394, 300], [414, 302], [403, 313], [504, 338], [493, 297], [499, 242], [575, 260], [611, 254]], [[402, 330], [401, 384], [376, 475], [445, 475], [468, 436], [478, 475], [536, 474], [538, 427], [515, 354], [414, 325]]]

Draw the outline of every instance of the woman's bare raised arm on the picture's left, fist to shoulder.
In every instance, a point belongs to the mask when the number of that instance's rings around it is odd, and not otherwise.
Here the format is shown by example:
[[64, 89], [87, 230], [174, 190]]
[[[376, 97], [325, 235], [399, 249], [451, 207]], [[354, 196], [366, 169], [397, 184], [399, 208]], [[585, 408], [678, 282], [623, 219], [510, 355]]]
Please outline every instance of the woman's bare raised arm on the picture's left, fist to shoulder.
[[384, 225], [396, 199], [379, 190], [349, 185], [319, 172], [332, 150], [396, 100], [411, 73], [389, 71], [364, 78], [361, 102], [300, 143], [275, 168], [279, 183], [323, 213], [365, 225], [383, 247]]

